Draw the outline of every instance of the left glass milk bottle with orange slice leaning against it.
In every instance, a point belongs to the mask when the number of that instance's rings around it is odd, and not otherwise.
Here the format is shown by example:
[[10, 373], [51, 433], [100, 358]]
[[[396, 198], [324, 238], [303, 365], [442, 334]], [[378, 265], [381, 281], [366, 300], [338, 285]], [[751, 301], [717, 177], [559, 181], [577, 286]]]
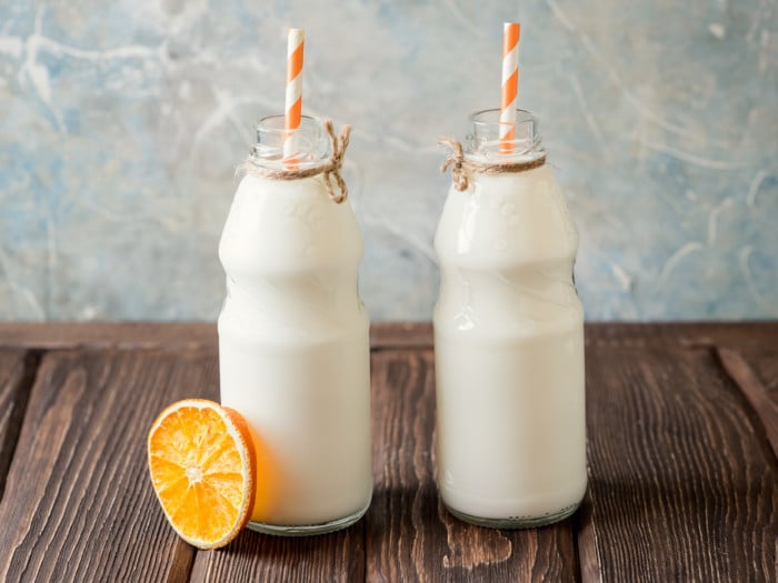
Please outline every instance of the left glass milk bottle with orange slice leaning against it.
[[[329, 122], [328, 122], [329, 123]], [[260, 121], [219, 244], [221, 402], [255, 432], [249, 529], [316, 534], [362, 516], [372, 494], [368, 314], [357, 291], [362, 239], [339, 139], [302, 118]], [[282, 162], [293, 132], [298, 151]]]

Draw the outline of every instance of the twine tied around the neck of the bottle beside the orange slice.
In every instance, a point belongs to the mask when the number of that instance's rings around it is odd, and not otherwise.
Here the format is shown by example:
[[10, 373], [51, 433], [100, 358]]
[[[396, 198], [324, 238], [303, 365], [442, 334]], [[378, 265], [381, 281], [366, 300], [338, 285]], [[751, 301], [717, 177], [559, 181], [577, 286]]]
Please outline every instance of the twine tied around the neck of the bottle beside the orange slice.
[[326, 163], [301, 170], [288, 170], [282, 168], [262, 168], [249, 159], [239, 170], [243, 170], [247, 174], [251, 174], [252, 177], [268, 178], [270, 180], [299, 180], [301, 178], [323, 174], [327, 195], [330, 198], [330, 200], [337, 204], [340, 204], [349, 195], [349, 189], [346, 185], [346, 181], [340, 175], [340, 168], [343, 165], [343, 155], [346, 154], [346, 149], [349, 145], [351, 127], [343, 125], [340, 129], [340, 135], [336, 135], [332, 120], [325, 120], [323, 125], [325, 131], [327, 131], [327, 135], [330, 138], [330, 144], [332, 147], [332, 155]]

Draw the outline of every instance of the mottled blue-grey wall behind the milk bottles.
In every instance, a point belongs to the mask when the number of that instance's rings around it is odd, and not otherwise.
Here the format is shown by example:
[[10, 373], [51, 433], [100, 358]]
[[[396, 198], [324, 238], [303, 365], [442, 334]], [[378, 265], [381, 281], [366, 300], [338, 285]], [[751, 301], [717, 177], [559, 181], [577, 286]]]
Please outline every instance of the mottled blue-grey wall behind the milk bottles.
[[346, 177], [377, 320], [429, 319], [441, 133], [520, 103], [578, 223], [590, 320], [778, 316], [775, 0], [2, 0], [0, 319], [215, 319], [216, 249], [252, 125], [351, 123]]

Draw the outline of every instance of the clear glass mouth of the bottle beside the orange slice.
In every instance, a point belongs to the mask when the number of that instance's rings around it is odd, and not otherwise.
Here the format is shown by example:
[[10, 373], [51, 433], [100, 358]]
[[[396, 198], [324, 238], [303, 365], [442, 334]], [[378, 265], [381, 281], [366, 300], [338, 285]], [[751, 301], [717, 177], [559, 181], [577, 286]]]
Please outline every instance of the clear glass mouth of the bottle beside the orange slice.
[[257, 142], [249, 160], [255, 164], [305, 170], [320, 165], [330, 157], [330, 140], [321, 121], [308, 115], [300, 118], [300, 127], [285, 128], [283, 115], [268, 115], [257, 124]]

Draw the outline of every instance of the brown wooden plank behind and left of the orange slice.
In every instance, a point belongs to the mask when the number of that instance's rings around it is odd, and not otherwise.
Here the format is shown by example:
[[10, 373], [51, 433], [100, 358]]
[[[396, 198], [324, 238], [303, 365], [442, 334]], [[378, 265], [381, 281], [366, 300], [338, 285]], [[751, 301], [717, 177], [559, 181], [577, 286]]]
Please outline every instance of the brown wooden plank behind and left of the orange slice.
[[0, 502], [0, 581], [187, 581], [147, 474], [146, 435], [168, 403], [217, 395], [198, 353], [43, 356]]

